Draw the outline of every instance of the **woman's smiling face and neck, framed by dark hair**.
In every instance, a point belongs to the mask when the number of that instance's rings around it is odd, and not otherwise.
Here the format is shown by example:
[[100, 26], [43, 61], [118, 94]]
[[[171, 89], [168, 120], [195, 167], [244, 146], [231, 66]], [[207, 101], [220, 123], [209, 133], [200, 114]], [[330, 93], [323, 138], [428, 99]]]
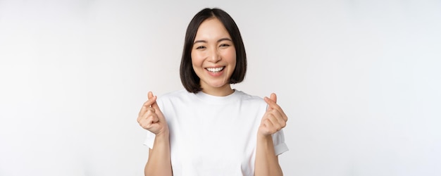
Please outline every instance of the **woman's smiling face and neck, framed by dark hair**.
[[230, 77], [236, 67], [236, 49], [217, 18], [209, 18], [199, 26], [192, 48], [192, 65], [201, 80], [202, 92], [231, 93]]

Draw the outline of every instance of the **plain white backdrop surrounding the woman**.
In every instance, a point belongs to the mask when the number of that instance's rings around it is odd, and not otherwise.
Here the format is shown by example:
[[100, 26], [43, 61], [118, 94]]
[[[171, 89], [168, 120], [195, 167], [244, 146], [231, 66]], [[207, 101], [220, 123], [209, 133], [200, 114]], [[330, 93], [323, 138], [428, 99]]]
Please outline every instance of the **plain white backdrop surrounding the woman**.
[[143, 175], [147, 92], [187, 24], [240, 27], [249, 94], [289, 117], [285, 175], [441, 175], [441, 1], [0, 0], [0, 175]]

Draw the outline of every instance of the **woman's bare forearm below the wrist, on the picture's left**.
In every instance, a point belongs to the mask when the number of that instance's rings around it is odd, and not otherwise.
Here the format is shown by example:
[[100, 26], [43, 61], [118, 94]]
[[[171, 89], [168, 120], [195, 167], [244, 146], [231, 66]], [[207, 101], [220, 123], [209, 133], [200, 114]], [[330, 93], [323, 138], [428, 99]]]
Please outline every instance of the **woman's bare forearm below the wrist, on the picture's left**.
[[172, 175], [168, 134], [156, 135], [154, 147], [149, 151], [149, 161], [145, 166], [144, 175]]

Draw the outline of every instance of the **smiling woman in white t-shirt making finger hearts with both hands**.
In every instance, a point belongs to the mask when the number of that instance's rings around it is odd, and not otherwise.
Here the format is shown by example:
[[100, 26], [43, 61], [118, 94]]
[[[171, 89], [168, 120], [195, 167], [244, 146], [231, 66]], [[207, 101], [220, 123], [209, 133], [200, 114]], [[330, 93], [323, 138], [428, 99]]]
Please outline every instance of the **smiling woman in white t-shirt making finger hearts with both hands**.
[[148, 130], [145, 175], [282, 175], [287, 116], [275, 94], [261, 99], [232, 89], [247, 57], [234, 20], [205, 8], [187, 27], [180, 65], [185, 90], [149, 92], [137, 121]]

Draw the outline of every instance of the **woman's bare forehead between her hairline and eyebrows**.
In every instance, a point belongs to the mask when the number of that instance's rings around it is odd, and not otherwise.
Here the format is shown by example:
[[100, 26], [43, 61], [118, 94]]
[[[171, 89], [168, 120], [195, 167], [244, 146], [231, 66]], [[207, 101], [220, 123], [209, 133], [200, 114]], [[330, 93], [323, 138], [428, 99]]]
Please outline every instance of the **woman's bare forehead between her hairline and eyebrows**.
[[230, 38], [230, 34], [218, 18], [204, 20], [196, 32], [196, 39], [217, 39], [220, 37]]

